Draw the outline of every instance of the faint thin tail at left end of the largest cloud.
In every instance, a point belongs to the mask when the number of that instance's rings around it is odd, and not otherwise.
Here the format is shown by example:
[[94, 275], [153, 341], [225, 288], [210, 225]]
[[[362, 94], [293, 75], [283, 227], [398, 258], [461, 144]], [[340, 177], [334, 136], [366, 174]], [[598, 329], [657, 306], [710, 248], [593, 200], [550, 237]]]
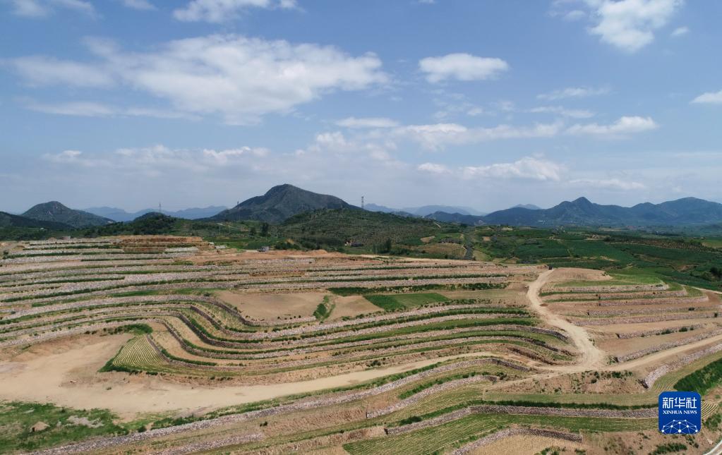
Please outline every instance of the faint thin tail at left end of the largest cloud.
[[110, 87], [113, 77], [103, 67], [53, 57], [28, 56], [9, 60], [12, 68], [30, 85], [64, 84], [74, 87]]

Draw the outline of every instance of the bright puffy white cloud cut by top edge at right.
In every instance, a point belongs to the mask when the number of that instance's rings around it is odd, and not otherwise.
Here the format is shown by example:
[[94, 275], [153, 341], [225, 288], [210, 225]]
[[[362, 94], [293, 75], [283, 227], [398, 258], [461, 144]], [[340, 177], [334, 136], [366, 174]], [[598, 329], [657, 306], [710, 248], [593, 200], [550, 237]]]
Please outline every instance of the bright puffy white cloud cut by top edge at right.
[[654, 31], [669, 22], [684, 0], [586, 0], [596, 25], [589, 32], [630, 53], [654, 40]]

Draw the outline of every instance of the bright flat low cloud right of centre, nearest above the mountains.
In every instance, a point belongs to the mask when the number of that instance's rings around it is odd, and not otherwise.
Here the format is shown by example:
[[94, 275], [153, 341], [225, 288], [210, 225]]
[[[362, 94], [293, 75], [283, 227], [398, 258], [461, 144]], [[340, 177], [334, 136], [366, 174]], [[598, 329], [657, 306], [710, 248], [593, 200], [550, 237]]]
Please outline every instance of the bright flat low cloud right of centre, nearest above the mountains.
[[541, 158], [523, 157], [515, 162], [502, 162], [487, 166], [466, 166], [464, 178], [526, 178], [538, 181], [560, 181], [561, 165]]

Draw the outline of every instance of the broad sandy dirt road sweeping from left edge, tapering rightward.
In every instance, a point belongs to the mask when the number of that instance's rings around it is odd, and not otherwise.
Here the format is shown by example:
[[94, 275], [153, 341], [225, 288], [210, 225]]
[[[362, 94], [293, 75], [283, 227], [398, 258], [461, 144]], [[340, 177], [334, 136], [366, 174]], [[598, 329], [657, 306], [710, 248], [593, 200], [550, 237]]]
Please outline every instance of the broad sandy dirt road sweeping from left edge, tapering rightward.
[[128, 339], [127, 335], [91, 338], [83, 345], [67, 347], [51, 355], [20, 356], [13, 362], [0, 363], [0, 399], [51, 402], [80, 409], [103, 407], [124, 419], [147, 412], [186, 415], [290, 394], [352, 386], [444, 360], [495, 355], [494, 352], [469, 352], [308, 381], [255, 386], [194, 386], [155, 376], [128, 378], [123, 373], [97, 374], [98, 368]]

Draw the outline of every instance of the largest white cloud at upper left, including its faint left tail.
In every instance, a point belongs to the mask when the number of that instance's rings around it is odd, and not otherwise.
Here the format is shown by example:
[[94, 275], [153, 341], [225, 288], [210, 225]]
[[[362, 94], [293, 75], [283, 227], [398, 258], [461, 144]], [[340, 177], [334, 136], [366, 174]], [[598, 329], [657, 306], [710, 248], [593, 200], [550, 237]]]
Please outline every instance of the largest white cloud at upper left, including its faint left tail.
[[173, 110], [218, 114], [232, 124], [257, 123], [335, 90], [387, 81], [373, 54], [354, 57], [331, 46], [284, 40], [210, 35], [170, 41], [148, 53], [126, 53], [105, 40], [87, 44], [98, 58], [93, 64], [45, 56], [11, 64], [27, 84], [122, 85], [168, 100]]

